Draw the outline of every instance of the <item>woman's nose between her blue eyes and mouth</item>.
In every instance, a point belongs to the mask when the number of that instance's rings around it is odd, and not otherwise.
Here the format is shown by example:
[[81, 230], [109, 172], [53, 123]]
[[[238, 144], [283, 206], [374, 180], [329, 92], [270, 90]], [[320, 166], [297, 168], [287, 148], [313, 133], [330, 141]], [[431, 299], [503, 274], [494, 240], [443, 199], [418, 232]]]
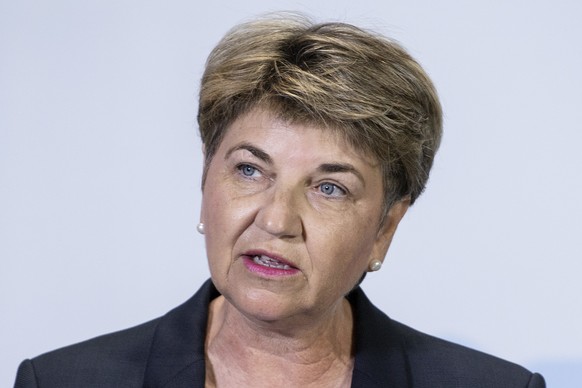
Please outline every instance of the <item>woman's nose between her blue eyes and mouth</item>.
[[298, 194], [291, 188], [271, 187], [270, 195], [263, 197], [255, 224], [265, 232], [279, 238], [300, 236], [303, 226]]

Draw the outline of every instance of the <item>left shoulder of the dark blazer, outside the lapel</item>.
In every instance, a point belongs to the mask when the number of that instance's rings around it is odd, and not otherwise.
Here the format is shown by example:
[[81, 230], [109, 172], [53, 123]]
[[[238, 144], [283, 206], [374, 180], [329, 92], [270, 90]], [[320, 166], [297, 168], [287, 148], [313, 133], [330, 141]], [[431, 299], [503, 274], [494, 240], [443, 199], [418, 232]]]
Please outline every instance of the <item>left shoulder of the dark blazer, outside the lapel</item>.
[[24, 361], [15, 387], [140, 387], [159, 319]]

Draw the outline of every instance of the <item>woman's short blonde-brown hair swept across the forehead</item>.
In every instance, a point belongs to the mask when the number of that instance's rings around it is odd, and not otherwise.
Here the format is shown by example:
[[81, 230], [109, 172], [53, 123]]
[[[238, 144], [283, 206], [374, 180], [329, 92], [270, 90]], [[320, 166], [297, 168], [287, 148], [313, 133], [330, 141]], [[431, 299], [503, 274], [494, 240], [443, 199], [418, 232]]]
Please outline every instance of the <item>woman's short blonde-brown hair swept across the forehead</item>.
[[384, 214], [424, 190], [442, 134], [435, 88], [397, 43], [345, 23], [278, 15], [236, 26], [210, 53], [198, 124], [205, 172], [229, 125], [257, 107], [338, 131], [377, 160]]

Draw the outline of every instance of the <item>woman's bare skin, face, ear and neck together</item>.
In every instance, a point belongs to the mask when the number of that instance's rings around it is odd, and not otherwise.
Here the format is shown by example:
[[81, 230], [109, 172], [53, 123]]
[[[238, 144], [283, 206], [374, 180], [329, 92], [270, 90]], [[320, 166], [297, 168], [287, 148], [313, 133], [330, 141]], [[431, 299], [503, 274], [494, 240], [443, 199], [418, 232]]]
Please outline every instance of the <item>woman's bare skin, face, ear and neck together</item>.
[[207, 385], [349, 386], [344, 296], [384, 259], [409, 202], [380, 226], [374, 160], [330, 130], [259, 109], [230, 126], [207, 174], [201, 221], [222, 294], [210, 306]]

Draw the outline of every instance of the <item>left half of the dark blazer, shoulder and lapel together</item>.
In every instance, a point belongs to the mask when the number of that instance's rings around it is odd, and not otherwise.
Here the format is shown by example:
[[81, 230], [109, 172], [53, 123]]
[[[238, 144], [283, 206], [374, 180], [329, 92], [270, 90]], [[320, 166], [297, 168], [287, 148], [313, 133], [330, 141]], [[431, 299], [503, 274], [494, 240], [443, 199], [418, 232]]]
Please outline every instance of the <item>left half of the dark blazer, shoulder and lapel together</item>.
[[[204, 360], [208, 304], [217, 295], [209, 280], [160, 318], [25, 360], [15, 388], [163, 386]], [[204, 368], [191, 371], [202, 376]]]

